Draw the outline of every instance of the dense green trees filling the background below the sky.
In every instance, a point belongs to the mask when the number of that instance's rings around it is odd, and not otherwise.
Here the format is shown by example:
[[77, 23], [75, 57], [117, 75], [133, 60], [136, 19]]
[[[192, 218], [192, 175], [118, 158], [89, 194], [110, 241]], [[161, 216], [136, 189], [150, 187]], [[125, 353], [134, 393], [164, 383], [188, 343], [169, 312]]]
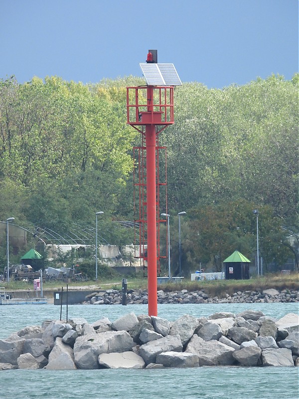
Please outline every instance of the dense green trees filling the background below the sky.
[[[94, 224], [98, 210], [107, 222], [133, 220], [132, 147], [140, 136], [126, 125], [125, 87], [140, 84], [133, 77], [96, 85], [1, 79], [0, 219], [13, 215], [25, 228], [61, 233], [74, 223]], [[253, 208], [260, 211], [266, 264], [288, 257], [298, 264], [287, 239], [298, 232], [298, 74], [223, 90], [186, 83], [174, 101], [175, 124], [160, 137], [167, 146], [173, 268], [172, 216], [182, 210], [185, 272], [198, 262], [219, 268], [236, 248], [254, 253]], [[124, 244], [126, 233], [111, 241]]]

